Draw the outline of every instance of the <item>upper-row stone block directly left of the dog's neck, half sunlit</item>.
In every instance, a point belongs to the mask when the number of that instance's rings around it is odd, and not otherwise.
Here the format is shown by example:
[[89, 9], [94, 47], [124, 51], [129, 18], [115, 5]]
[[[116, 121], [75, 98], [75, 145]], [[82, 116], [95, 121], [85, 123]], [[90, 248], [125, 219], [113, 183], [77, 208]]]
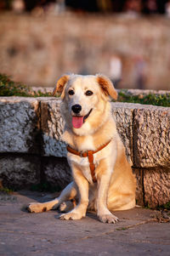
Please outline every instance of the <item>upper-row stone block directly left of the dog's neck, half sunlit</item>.
[[65, 143], [61, 141], [64, 121], [59, 111], [59, 99], [41, 101], [42, 155], [66, 156]]

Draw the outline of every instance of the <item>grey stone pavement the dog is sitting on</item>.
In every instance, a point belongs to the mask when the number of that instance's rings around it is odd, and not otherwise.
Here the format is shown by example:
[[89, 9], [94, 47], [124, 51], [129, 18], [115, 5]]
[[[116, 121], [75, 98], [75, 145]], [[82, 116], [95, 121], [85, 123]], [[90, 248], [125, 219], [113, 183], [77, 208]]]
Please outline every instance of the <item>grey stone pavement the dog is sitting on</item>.
[[[28, 202], [42, 202], [41, 193], [18, 191], [0, 196], [0, 255], [170, 255], [170, 223], [159, 213], [134, 208], [116, 212], [117, 224], [103, 224], [94, 213], [64, 221], [59, 213], [27, 213]], [[165, 220], [165, 219], [164, 219]]]

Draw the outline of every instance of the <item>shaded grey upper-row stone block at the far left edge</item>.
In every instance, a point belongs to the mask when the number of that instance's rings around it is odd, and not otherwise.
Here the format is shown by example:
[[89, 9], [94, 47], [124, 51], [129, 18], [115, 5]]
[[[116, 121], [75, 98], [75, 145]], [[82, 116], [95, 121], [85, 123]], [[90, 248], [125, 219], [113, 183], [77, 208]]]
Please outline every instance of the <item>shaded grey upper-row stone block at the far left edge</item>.
[[0, 98], [0, 153], [39, 152], [39, 101]]

